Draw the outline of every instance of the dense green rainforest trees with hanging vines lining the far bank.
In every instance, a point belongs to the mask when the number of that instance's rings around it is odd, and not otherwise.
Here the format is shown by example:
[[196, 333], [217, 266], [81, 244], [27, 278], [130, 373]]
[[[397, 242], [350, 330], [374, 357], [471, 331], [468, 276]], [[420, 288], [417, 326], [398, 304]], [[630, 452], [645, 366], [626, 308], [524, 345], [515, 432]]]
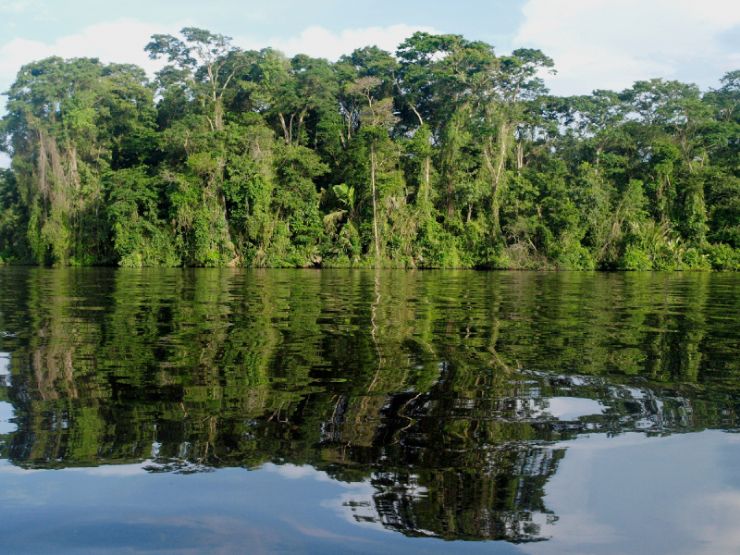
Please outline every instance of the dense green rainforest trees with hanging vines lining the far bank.
[[740, 269], [740, 70], [549, 94], [545, 53], [416, 33], [337, 62], [197, 28], [7, 91], [0, 264]]

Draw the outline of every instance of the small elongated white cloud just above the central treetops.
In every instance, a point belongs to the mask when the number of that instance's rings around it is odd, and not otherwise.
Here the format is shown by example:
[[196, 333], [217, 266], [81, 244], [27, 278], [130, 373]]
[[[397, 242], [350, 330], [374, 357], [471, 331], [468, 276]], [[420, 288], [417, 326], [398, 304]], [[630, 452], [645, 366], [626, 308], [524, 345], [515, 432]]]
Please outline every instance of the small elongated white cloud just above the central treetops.
[[413, 25], [389, 25], [387, 27], [365, 27], [330, 31], [320, 26], [307, 27], [294, 37], [275, 37], [266, 42], [257, 43], [249, 38], [237, 40], [244, 48], [264, 48], [269, 45], [287, 55], [308, 54], [316, 58], [336, 60], [342, 54], [349, 54], [363, 46], [378, 46], [383, 50], [395, 52], [396, 47], [416, 31], [436, 33], [432, 27]]

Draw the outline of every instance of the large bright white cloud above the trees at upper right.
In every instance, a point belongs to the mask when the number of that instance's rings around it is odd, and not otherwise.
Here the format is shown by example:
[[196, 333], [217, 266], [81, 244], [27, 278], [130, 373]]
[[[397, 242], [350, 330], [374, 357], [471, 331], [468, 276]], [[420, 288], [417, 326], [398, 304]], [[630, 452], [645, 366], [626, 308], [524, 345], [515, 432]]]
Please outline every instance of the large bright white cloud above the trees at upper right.
[[652, 77], [706, 86], [740, 64], [721, 44], [740, 25], [736, 0], [528, 0], [523, 15], [513, 43], [554, 58], [548, 83], [558, 94]]

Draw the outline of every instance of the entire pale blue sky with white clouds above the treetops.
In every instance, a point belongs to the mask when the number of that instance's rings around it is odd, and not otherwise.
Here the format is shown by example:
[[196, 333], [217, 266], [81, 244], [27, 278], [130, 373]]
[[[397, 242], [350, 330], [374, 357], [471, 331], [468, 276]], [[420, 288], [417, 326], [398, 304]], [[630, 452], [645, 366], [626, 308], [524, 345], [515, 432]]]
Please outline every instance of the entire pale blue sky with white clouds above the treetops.
[[461, 33], [499, 53], [541, 48], [555, 59], [548, 84], [558, 94], [650, 77], [707, 88], [740, 68], [736, 0], [0, 0], [0, 90], [23, 63], [51, 54], [153, 71], [142, 50], [148, 36], [185, 25], [245, 48], [328, 58], [368, 43], [393, 50], [416, 29]]

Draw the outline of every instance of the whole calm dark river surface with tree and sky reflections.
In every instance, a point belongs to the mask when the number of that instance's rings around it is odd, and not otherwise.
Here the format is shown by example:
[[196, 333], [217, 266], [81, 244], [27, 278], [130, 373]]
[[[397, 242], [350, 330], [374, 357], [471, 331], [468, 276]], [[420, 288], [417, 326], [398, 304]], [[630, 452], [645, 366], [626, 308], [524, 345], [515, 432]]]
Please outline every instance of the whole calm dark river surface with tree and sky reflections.
[[0, 550], [740, 552], [739, 293], [0, 269]]

